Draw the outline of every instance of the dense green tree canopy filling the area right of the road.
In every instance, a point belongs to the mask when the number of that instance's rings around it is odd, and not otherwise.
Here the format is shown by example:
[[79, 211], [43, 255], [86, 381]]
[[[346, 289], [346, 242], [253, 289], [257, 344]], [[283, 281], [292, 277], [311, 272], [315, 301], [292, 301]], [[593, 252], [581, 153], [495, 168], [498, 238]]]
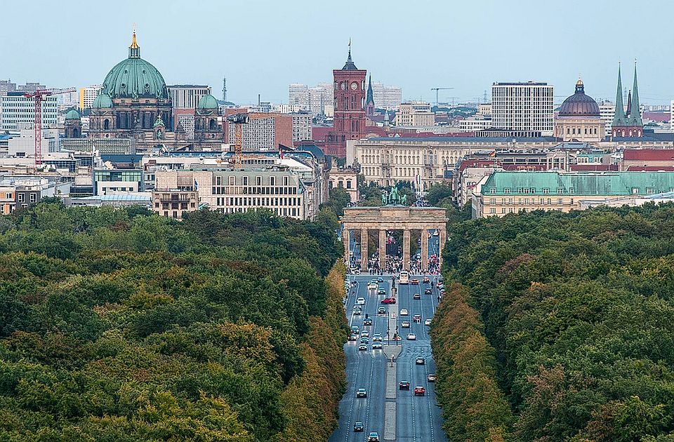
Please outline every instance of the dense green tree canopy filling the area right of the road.
[[[673, 440], [674, 205], [492, 217], [448, 236], [445, 274], [461, 285], [439, 314], [463, 300], [466, 327], [480, 313], [480, 370], [514, 414], [505, 440]], [[432, 331], [440, 352], [443, 322]], [[453, 379], [465, 342], [449, 357]]]

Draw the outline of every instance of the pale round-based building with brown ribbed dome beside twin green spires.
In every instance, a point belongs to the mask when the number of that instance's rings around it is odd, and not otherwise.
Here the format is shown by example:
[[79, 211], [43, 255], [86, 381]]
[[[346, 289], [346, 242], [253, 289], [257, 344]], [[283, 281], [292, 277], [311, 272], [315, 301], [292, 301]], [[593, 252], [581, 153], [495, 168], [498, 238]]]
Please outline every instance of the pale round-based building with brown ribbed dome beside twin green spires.
[[599, 105], [586, 95], [585, 85], [576, 81], [576, 93], [564, 100], [555, 118], [555, 137], [563, 141], [597, 142], [604, 136]]

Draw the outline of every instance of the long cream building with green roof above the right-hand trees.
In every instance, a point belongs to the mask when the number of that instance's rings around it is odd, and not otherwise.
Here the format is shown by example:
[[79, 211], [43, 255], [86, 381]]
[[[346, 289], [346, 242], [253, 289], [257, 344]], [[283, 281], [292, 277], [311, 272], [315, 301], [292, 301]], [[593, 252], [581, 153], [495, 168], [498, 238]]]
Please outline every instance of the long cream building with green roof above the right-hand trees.
[[480, 180], [473, 192], [473, 217], [531, 210], [569, 212], [627, 196], [674, 192], [671, 172], [506, 172]]

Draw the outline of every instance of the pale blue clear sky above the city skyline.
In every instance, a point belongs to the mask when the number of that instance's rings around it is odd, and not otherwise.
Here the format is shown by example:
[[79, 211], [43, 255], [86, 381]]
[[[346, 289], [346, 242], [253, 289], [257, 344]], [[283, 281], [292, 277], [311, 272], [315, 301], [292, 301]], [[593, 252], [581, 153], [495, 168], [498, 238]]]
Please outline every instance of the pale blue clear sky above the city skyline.
[[227, 100], [287, 102], [289, 83], [332, 81], [348, 42], [373, 81], [405, 100], [466, 102], [494, 81], [546, 81], [556, 102], [582, 76], [595, 100], [614, 100], [618, 63], [642, 102], [674, 99], [674, 1], [549, 0], [2, 0], [0, 79], [49, 87], [102, 83], [128, 55], [167, 84], [207, 84]]

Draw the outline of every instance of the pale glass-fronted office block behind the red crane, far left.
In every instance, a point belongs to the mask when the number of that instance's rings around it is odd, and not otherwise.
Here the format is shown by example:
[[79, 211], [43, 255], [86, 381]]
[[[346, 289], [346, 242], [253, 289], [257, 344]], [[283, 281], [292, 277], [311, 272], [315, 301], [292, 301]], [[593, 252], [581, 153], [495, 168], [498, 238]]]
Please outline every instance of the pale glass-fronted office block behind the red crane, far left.
[[[34, 99], [25, 97], [22, 92], [10, 92], [0, 97], [1, 130], [18, 130], [35, 121]], [[51, 95], [42, 100], [42, 127], [55, 127], [58, 119], [56, 97]]]

